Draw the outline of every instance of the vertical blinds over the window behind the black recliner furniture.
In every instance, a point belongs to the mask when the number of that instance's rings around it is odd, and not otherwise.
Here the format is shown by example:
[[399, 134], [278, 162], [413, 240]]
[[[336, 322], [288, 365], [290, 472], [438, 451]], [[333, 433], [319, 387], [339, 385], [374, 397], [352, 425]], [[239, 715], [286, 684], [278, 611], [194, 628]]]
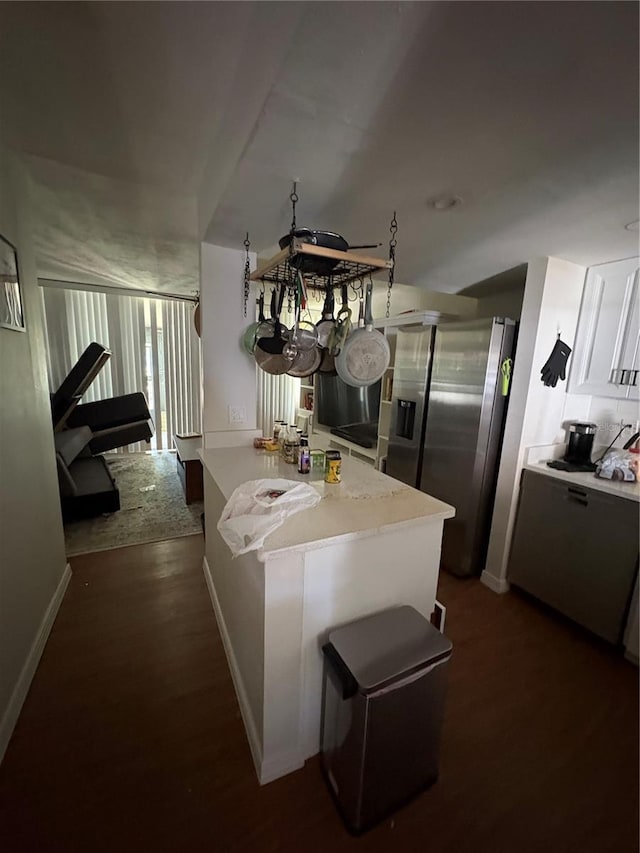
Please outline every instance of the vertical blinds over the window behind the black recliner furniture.
[[155, 424], [154, 450], [171, 448], [176, 432], [200, 432], [200, 342], [191, 303], [54, 287], [43, 287], [42, 296], [52, 390], [97, 341], [111, 358], [84, 402], [142, 391]]

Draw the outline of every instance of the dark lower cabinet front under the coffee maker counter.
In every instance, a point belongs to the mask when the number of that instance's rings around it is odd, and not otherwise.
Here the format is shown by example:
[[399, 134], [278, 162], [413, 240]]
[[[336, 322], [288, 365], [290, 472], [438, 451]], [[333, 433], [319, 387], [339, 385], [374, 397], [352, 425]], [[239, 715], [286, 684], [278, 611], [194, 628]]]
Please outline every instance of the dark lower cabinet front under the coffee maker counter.
[[523, 471], [508, 579], [611, 643], [638, 571], [638, 504]]

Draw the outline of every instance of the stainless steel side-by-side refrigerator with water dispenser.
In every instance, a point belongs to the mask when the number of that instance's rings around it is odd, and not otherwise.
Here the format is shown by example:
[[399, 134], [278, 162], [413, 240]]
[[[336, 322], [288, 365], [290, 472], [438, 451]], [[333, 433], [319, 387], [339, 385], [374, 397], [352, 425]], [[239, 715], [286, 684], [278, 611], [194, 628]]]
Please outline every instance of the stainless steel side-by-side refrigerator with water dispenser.
[[499, 317], [398, 329], [386, 472], [456, 509], [441, 566], [484, 568], [515, 323]]

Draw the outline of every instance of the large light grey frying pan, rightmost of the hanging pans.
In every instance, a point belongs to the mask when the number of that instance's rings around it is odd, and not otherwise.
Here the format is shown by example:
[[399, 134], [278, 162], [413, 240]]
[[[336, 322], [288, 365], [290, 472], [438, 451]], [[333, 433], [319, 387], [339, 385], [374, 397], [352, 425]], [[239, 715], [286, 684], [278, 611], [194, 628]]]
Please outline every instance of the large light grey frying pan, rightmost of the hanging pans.
[[364, 328], [351, 332], [336, 356], [338, 376], [347, 385], [363, 388], [382, 378], [391, 361], [389, 342], [373, 328], [371, 297], [373, 285], [367, 284], [364, 309]]

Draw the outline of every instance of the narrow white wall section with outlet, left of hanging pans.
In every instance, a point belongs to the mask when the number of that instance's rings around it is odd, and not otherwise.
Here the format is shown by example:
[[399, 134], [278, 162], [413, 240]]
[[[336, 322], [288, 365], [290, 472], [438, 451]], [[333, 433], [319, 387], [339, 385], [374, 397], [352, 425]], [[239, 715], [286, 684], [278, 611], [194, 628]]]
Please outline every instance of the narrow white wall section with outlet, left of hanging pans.
[[[205, 447], [250, 443], [256, 432], [256, 365], [241, 345], [253, 322], [255, 297], [244, 316], [243, 251], [210, 243], [200, 247], [200, 319], [202, 327], [203, 420]], [[255, 267], [255, 255], [250, 256]], [[229, 422], [229, 407], [243, 410], [242, 423]]]

